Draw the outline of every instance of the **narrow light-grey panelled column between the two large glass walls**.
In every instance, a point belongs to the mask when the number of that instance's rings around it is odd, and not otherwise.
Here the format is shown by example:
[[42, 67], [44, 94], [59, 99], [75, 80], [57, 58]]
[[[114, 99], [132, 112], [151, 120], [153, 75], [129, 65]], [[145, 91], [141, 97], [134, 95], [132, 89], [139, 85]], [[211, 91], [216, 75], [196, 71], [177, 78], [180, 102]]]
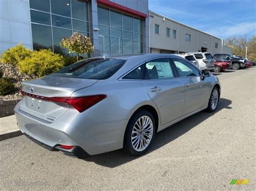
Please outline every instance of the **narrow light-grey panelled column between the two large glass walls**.
[[98, 8], [97, 0], [89, 1], [89, 27], [90, 27], [90, 38], [92, 44], [94, 45], [94, 51], [91, 54], [91, 57], [99, 56], [99, 32], [98, 30]]

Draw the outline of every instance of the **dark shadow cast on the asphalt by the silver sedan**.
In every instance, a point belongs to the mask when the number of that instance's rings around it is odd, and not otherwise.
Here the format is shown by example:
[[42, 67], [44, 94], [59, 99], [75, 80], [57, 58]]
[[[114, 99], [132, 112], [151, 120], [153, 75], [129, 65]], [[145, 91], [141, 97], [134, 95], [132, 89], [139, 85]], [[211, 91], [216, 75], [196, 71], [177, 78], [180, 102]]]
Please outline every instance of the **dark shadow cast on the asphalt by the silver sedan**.
[[[222, 109], [232, 109], [229, 106], [231, 105], [231, 103], [231, 100], [220, 98], [218, 109], [215, 112], [208, 113], [206, 111], [201, 111], [198, 114], [192, 115], [176, 124], [171, 125], [169, 128], [158, 132], [154, 137], [154, 142], [152, 143], [150, 150], [147, 152], [147, 154], [184, 135], [186, 132], [190, 131], [201, 122], [205, 121], [205, 119], [213, 116], [216, 112], [219, 112]], [[138, 157], [132, 157], [130, 155], [127, 155], [123, 150], [117, 150], [108, 153], [93, 155], [83, 160], [88, 162], [95, 162], [96, 164], [101, 166], [115, 168], [136, 159], [138, 159]]]

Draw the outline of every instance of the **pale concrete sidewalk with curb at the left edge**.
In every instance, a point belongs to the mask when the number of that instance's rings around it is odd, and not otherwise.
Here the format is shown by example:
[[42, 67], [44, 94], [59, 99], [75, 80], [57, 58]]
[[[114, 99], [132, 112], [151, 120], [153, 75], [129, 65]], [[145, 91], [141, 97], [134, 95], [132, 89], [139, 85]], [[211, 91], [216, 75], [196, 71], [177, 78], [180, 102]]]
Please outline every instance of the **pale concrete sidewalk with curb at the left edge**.
[[0, 140], [22, 135], [19, 131], [15, 115], [0, 118]]

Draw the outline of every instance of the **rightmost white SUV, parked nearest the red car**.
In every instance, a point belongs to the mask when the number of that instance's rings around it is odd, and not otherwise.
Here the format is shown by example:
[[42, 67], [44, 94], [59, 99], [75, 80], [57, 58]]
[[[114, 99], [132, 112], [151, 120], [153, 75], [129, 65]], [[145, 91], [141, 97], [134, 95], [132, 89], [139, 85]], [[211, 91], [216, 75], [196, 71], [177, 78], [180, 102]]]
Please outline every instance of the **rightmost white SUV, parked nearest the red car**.
[[193, 54], [196, 57], [196, 59], [199, 62], [199, 65], [205, 63], [207, 70], [213, 70], [214, 69], [214, 59], [213, 59], [211, 53], [190, 52], [190, 54]]

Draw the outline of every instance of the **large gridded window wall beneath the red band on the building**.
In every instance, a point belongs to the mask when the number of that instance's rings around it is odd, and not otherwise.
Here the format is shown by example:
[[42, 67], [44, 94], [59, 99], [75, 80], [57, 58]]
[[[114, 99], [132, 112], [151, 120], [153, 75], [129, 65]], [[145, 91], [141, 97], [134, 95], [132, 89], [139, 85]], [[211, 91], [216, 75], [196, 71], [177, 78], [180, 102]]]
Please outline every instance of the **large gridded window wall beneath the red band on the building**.
[[109, 55], [142, 53], [142, 19], [98, 6], [99, 51]]

